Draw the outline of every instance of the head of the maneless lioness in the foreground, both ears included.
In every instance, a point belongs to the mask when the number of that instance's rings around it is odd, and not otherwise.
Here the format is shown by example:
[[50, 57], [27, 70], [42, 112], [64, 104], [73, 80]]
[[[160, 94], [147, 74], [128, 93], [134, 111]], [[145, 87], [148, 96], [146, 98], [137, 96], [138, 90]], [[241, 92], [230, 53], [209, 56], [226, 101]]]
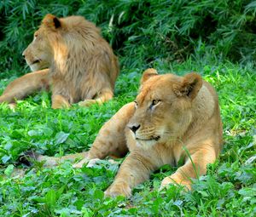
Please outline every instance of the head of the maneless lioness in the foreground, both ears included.
[[192, 121], [192, 103], [201, 89], [201, 76], [194, 72], [184, 77], [158, 75], [148, 69], [141, 84], [136, 111], [128, 123], [137, 144], [153, 146], [183, 136]]

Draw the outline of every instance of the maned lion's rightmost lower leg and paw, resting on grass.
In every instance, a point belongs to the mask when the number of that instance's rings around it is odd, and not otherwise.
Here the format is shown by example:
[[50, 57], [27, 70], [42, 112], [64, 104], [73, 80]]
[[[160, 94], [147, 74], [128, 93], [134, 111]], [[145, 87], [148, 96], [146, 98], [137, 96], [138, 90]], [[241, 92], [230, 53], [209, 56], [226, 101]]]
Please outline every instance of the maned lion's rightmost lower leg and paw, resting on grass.
[[79, 102], [79, 106], [91, 106], [93, 104], [102, 105], [104, 102], [113, 99], [113, 91], [111, 89], [103, 90], [92, 100], [84, 100]]

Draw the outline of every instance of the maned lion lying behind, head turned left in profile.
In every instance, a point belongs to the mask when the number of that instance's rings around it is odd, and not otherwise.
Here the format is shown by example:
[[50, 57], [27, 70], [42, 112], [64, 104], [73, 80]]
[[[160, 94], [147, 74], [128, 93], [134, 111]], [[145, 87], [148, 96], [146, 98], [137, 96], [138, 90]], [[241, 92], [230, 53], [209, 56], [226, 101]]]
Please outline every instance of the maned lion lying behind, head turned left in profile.
[[100, 30], [84, 17], [59, 19], [47, 14], [23, 56], [36, 72], [10, 83], [0, 96], [0, 103], [12, 103], [49, 86], [52, 108], [77, 102], [90, 106], [113, 98], [118, 60]]

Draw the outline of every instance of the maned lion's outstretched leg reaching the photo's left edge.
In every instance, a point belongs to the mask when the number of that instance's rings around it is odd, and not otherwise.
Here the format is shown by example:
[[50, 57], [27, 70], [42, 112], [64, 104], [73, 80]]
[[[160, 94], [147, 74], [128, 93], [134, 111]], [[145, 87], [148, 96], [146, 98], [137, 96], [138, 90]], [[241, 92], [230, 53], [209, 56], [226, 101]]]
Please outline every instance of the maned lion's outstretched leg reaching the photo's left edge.
[[0, 96], [0, 103], [13, 103], [40, 89], [49, 89], [49, 69], [34, 71], [15, 79]]

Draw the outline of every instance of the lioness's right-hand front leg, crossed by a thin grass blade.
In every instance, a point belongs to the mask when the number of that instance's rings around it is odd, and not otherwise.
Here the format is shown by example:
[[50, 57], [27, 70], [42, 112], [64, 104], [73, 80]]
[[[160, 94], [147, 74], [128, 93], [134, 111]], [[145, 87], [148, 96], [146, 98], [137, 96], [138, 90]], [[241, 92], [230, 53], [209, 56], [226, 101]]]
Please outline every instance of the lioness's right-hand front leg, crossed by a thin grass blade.
[[177, 168], [176, 173], [162, 180], [160, 189], [169, 184], [174, 184], [185, 186], [188, 190], [191, 190], [192, 179], [206, 174], [207, 164], [214, 163], [217, 156], [212, 146], [202, 146], [198, 150], [187, 158], [182, 167]]

